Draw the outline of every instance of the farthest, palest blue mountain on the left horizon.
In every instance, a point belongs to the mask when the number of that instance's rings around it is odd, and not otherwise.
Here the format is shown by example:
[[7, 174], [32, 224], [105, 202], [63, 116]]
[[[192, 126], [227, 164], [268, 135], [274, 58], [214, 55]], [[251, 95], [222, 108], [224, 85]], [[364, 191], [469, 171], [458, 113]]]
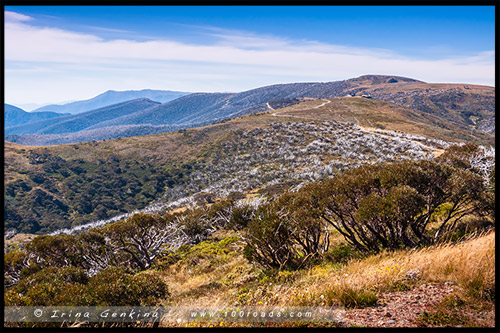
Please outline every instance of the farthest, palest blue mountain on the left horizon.
[[66, 112], [71, 114], [77, 114], [137, 98], [148, 98], [152, 101], [165, 103], [187, 94], [189, 93], [181, 91], [151, 90], [151, 89], [127, 90], [127, 91], [108, 90], [105, 93], [102, 93], [91, 99], [76, 101], [63, 105], [55, 105], [55, 104], [46, 105], [36, 110], [33, 110], [33, 112], [53, 111], [53, 112]]

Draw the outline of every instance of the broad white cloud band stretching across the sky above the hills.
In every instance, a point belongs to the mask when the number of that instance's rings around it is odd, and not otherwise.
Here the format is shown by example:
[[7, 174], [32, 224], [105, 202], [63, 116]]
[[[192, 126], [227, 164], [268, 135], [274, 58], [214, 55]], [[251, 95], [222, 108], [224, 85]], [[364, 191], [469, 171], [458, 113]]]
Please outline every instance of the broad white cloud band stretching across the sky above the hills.
[[[334, 81], [363, 74], [494, 85], [494, 51], [474, 57], [412, 59], [390, 50], [216, 28], [210, 35], [217, 41], [209, 45], [104, 40], [92, 34], [38, 27], [30, 24], [28, 16], [8, 13], [5, 73], [6, 100], [11, 102], [88, 98], [107, 89], [242, 91], [266, 84]], [[23, 66], [14, 68], [12, 64]], [[27, 95], [30, 85], [38, 88]], [[56, 94], [59, 97], [54, 100]], [[82, 96], [85, 94], [87, 97]]]

